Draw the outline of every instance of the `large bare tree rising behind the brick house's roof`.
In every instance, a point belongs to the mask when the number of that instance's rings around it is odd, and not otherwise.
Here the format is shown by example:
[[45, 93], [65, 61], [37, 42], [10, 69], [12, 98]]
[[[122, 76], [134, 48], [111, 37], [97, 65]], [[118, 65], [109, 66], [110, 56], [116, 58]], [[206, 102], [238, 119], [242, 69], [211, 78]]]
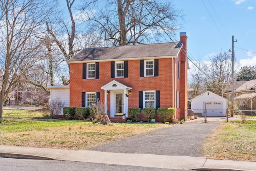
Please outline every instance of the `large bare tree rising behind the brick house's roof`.
[[[102, 35], [112, 46], [166, 41], [166, 37], [180, 28], [178, 19], [183, 17], [182, 10], [177, 10], [170, 0], [86, 2], [79, 9], [90, 23], [88, 28]], [[102, 4], [106, 6], [100, 8]]]

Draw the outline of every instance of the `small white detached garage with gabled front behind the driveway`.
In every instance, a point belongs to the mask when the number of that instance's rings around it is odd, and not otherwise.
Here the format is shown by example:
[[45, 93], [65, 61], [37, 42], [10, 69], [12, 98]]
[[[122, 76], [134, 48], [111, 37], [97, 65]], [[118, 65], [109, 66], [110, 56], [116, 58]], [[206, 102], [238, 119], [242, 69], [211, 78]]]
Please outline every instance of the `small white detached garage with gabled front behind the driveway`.
[[194, 113], [201, 113], [202, 116], [205, 115], [206, 109], [207, 116], [226, 116], [227, 106], [227, 99], [211, 91], [206, 91], [191, 100], [191, 109]]

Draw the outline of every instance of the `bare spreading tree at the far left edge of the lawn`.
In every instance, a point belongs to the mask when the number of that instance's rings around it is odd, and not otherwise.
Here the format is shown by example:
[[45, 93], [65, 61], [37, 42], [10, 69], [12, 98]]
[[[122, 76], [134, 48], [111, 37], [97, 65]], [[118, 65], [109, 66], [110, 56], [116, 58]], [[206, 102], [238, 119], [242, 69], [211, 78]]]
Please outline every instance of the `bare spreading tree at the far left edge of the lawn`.
[[0, 0], [0, 119], [3, 101], [12, 85], [42, 59], [43, 24], [52, 9], [52, 1]]

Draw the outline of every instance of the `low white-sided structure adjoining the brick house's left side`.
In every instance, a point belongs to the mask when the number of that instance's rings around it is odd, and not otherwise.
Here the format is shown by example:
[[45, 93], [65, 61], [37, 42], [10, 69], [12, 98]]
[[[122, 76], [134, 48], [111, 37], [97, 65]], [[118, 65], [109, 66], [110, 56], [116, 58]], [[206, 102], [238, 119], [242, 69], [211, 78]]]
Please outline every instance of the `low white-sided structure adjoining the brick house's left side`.
[[50, 89], [49, 103], [58, 100], [64, 103], [64, 107], [69, 106], [69, 85], [48, 86], [47, 88]]

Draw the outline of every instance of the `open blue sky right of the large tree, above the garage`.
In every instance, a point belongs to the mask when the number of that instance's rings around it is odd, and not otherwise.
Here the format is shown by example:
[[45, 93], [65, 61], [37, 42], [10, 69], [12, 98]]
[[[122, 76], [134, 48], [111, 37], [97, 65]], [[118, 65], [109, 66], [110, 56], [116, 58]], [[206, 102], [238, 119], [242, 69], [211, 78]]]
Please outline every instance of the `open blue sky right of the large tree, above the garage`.
[[174, 0], [174, 4], [186, 15], [179, 32], [188, 36], [192, 60], [209, 61], [220, 51], [231, 50], [234, 36], [240, 66], [256, 65], [256, 0]]

